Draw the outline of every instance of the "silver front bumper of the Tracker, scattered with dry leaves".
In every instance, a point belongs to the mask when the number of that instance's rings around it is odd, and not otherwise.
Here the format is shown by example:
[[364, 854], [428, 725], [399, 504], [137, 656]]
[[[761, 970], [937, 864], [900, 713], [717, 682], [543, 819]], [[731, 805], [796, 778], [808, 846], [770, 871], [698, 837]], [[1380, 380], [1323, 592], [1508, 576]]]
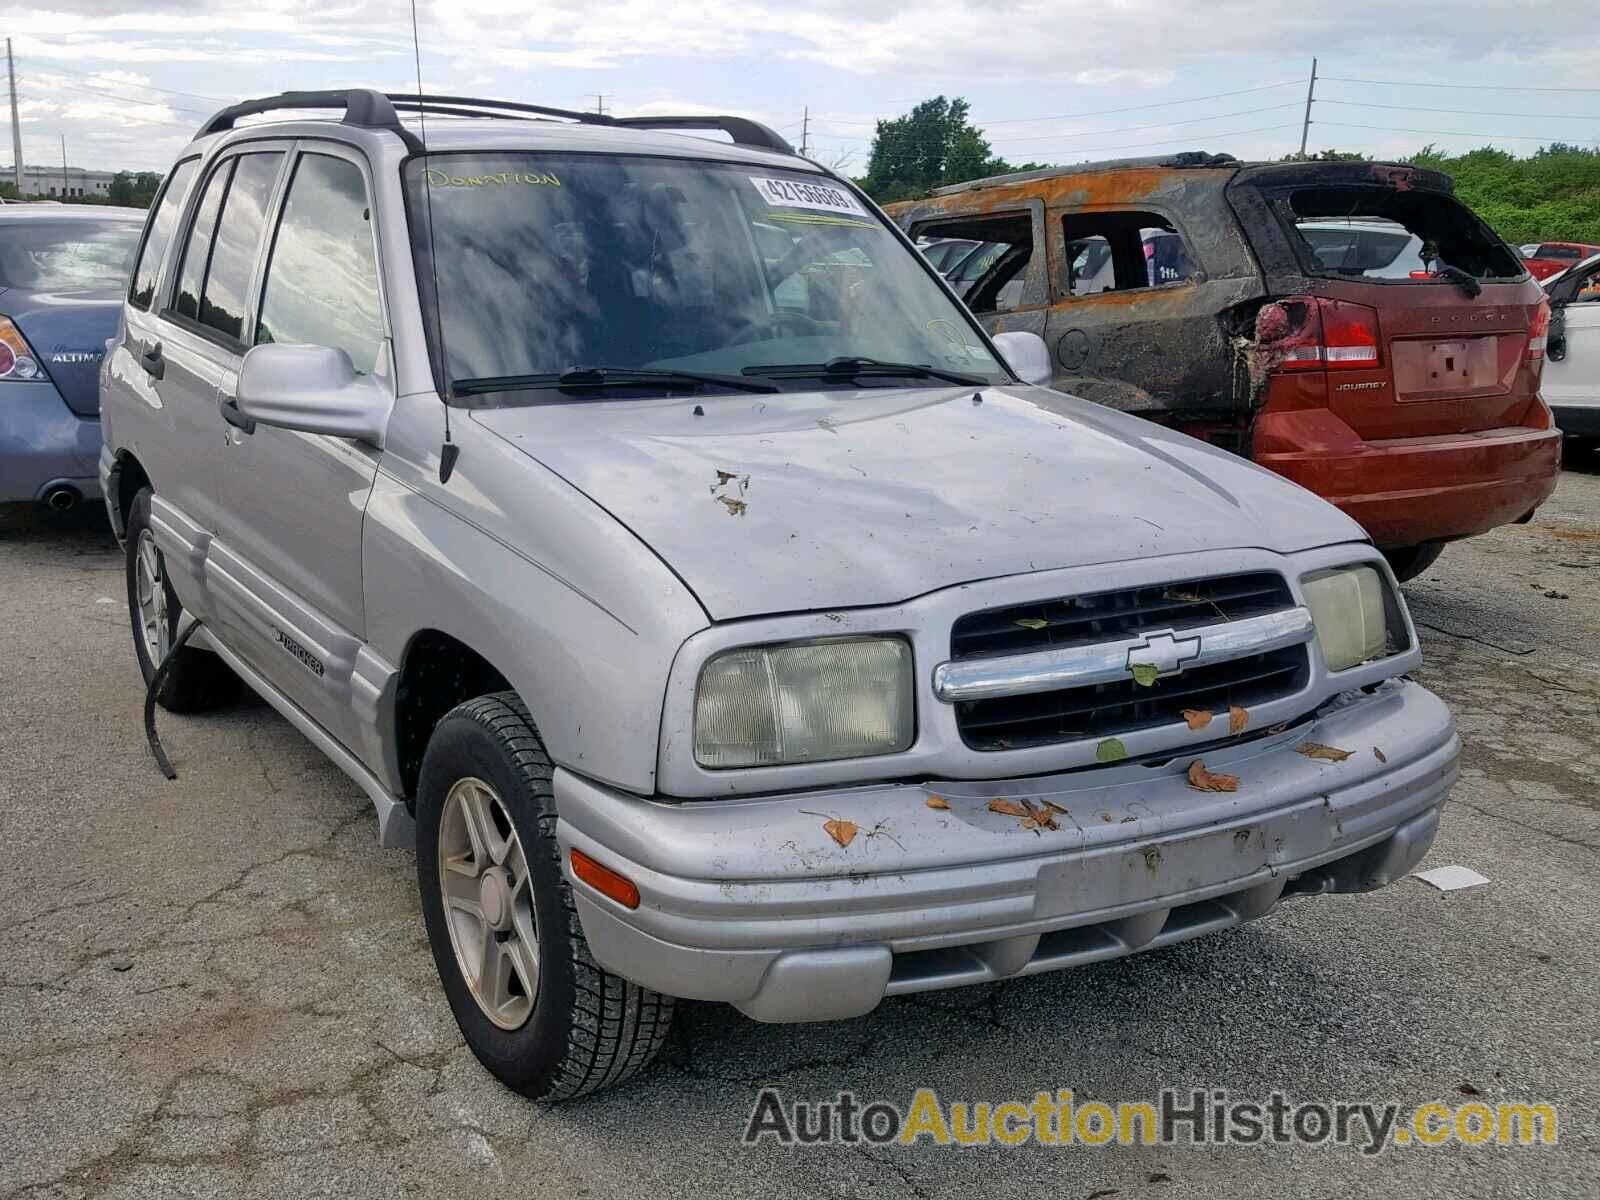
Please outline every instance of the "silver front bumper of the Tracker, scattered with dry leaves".
[[[1309, 758], [1296, 752], [1306, 741], [1354, 754]], [[762, 1021], [826, 1021], [885, 995], [1168, 946], [1285, 894], [1382, 886], [1427, 851], [1458, 754], [1445, 704], [1390, 680], [1291, 730], [1208, 750], [1213, 771], [1240, 776], [1234, 794], [1189, 787], [1189, 755], [683, 803], [558, 770], [557, 838], [603, 966]], [[1059, 832], [1032, 832], [990, 811], [995, 797], [1067, 814]], [[830, 819], [858, 827], [848, 846], [824, 830]], [[634, 880], [640, 907], [573, 878], [573, 848]]]

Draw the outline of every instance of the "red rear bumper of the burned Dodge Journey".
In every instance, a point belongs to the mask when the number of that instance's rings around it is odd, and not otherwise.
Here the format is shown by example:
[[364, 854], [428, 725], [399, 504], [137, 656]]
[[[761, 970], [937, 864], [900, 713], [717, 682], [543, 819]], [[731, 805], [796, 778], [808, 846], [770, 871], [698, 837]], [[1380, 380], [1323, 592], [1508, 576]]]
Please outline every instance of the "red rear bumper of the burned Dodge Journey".
[[1467, 538], [1528, 517], [1562, 470], [1560, 429], [1363, 442], [1325, 410], [1262, 413], [1256, 446], [1256, 462], [1333, 501], [1381, 547]]

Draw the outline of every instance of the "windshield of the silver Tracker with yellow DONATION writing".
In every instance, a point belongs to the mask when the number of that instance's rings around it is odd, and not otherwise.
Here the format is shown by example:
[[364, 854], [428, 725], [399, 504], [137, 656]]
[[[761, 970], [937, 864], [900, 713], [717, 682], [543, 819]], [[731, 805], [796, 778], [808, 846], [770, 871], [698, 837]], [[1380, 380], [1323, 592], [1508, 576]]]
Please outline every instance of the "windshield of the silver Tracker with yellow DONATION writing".
[[1008, 381], [920, 256], [826, 178], [450, 154], [408, 163], [406, 189], [424, 296], [432, 206], [438, 323], [458, 387], [549, 382], [579, 366], [757, 378], [838, 358]]

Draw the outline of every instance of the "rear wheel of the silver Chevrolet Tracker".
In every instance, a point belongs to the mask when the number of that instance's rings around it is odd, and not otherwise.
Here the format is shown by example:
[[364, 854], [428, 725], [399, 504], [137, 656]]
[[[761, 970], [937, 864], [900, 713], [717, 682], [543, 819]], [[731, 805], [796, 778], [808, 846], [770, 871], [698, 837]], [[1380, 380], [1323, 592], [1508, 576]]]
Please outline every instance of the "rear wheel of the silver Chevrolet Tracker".
[[[128, 547], [123, 560], [123, 574], [128, 579], [128, 619], [133, 626], [133, 653], [139, 659], [139, 674], [144, 675], [144, 686], [150, 686], [155, 669], [160, 666], [160, 654], [178, 635], [178, 622], [182, 618], [182, 605], [166, 578], [166, 558], [155, 546], [150, 533], [150, 496], [149, 488], [141, 488], [128, 509]], [[141, 558], [142, 574], [141, 574]], [[141, 606], [141, 594], [146, 590], [142, 579], [152, 573], [155, 589], [150, 590], [154, 611]], [[165, 626], [158, 632], [154, 626]], [[168, 712], [206, 712], [219, 709], [238, 696], [238, 675], [210, 650], [184, 646], [166, 672], [166, 682], [155, 694], [155, 702]]]

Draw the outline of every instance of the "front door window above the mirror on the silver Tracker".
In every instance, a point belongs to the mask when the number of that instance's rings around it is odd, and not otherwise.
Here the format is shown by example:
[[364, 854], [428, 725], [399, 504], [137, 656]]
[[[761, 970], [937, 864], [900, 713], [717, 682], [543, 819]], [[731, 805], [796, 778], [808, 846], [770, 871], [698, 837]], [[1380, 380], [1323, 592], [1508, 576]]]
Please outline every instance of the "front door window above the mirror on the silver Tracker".
[[307, 154], [272, 243], [256, 342], [312, 342], [371, 374], [384, 341], [371, 203], [355, 163]]

